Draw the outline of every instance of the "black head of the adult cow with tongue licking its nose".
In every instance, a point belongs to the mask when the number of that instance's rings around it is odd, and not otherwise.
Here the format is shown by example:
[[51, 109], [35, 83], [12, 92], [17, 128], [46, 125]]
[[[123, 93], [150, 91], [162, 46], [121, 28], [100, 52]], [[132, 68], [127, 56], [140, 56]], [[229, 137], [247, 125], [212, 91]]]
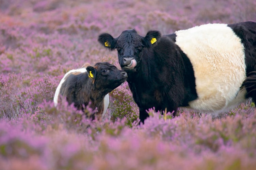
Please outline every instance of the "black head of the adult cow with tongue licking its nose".
[[123, 31], [117, 38], [103, 33], [99, 35], [98, 41], [110, 50], [116, 49], [120, 66], [131, 70], [139, 65], [143, 48], [150, 48], [160, 37], [159, 31], [148, 31], [147, 35], [142, 37], [133, 29]]

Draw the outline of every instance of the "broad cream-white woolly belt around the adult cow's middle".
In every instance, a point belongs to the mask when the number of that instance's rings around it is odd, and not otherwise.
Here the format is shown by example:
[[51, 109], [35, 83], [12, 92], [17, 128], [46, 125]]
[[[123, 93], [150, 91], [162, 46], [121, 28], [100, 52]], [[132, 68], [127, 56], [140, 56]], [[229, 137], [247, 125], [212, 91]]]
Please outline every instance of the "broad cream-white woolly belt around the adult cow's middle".
[[192, 63], [198, 99], [189, 108], [218, 112], [245, 100], [244, 47], [227, 24], [205, 24], [175, 32], [176, 44]]

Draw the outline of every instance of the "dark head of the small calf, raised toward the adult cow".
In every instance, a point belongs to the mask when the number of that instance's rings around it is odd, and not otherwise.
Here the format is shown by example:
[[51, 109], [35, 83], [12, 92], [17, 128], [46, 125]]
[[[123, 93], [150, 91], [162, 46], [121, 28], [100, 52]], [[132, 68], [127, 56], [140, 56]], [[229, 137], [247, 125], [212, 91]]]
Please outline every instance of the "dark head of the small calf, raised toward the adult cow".
[[127, 79], [127, 73], [118, 70], [116, 66], [108, 63], [96, 63], [94, 66], [86, 67], [88, 76], [92, 79], [94, 89], [109, 93]]

